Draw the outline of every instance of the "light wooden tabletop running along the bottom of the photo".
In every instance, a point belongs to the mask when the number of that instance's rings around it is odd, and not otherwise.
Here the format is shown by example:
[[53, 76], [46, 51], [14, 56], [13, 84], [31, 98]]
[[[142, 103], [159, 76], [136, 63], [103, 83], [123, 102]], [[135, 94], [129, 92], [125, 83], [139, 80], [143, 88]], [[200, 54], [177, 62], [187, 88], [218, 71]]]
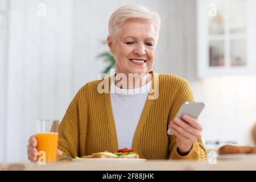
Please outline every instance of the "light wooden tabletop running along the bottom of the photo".
[[97, 170], [97, 171], [158, 171], [158, 170], [256, 170], [256, 160], [217, 160], [217, 164], [207, 162], [182, 162], [174, 160], [148, 160], [146, 162], [57, 162], [40, 165], [0, 164], [0, 170]]

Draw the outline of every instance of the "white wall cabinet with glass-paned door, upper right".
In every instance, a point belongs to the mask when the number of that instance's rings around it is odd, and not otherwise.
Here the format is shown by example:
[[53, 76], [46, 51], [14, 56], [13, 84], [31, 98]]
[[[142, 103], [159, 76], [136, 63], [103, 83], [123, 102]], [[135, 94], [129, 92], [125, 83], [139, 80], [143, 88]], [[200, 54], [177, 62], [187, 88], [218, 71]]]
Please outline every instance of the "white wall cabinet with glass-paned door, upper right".
[[255, 0], [197, 0], [197, 76], [255, 74], [255, 35]]

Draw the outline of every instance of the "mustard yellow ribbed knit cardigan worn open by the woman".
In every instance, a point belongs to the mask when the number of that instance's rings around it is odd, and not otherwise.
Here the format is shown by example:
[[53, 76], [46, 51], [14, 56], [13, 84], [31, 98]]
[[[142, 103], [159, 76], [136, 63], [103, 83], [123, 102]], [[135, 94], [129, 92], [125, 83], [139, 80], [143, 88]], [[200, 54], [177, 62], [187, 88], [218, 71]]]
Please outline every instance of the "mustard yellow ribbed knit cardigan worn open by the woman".
[[[181, 156], [176, 137], [167, 135], [168, 124], [181, 104], [193, 102], [188, 82], [175, 75], [151, 73], [151, 90], [134, 133], [133, 148], [144, 159], [205, 160], [207, 151], [201, 139], [187, 155]], [[88, 82], [73, 98], [59, 127], [58, 147], [63, 156], [92, 155], [105, 150], [117, 152], [110, 94], [98, 92], [99, 84], [110, 85], [111, 78]], [[109, 90], [108, 85], [102, 88]]]

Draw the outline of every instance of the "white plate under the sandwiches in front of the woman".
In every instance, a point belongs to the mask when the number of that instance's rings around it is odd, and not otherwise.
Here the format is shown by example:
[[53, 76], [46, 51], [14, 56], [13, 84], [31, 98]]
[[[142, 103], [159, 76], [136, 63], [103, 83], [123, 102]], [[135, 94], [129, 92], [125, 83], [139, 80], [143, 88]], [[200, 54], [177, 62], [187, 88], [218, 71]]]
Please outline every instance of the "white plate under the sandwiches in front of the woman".
[[72, 159], [73, 162], [145, 162], [146, 159], [127, 159], [127, 158], [82, 158]]

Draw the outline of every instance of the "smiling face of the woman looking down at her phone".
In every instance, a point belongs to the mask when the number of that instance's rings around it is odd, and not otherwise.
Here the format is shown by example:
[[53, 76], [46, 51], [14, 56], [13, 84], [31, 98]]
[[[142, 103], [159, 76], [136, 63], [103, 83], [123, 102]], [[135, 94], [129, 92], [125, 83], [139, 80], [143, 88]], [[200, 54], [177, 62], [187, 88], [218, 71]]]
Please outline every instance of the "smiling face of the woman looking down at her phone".
[[147, 74], [151, 71], [156, 49], [154, 25], [148, 20], [129, 19], [117, 34], [115, 41], [108, 37], [117, 73]]

